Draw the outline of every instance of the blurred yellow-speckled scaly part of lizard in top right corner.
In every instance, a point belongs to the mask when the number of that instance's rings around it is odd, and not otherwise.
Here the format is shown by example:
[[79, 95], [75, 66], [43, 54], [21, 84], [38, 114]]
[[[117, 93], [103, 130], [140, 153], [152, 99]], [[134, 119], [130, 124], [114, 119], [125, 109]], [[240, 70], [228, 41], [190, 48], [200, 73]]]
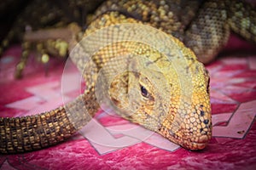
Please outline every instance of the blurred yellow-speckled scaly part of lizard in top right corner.
[[228, 0], [226, 7], [229, 8], [227, 17], [232, 31], [247, 41], [256, 43], [256, 8], [240, 0]]

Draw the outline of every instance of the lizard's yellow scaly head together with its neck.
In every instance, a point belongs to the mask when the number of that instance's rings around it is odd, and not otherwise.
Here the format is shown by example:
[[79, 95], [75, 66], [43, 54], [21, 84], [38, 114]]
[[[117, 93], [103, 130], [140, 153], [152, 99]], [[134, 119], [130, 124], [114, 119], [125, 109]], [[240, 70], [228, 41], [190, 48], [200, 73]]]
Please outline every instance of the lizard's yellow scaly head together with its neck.
[[83, 47], [92, 56], [84, 71], [95, 65], [94, 74], [84, 74], [84, 79], [97, 79], [100, 105], [110, 104], [119, 115], [186, 149], [206, 147], [212, 135], [209, 77], [182, 42], [130, 23], [91, 33]]

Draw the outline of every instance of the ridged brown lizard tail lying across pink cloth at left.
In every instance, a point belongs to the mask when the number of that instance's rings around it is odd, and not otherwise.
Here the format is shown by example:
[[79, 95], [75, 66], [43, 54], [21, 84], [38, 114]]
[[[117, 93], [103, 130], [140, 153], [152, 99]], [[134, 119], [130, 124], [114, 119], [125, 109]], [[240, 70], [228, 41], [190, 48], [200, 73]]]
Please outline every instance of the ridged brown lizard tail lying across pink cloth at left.
[[[0, 117], [0, 154], [40, 150], [58, 144], [78, 132], [96, 113], [93, 93], [35, 116]], [[95, 102], [96, 103], [96, 102]]]

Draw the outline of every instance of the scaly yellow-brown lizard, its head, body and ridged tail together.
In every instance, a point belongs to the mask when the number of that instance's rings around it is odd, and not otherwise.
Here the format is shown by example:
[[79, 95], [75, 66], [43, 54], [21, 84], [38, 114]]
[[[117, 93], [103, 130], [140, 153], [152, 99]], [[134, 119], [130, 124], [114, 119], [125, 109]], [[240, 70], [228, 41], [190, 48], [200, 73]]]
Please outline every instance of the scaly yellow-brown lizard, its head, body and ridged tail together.
[[[87, 83], [84, 94], [65, 108], [38, 116], [0, 118], [1, 153], [38, 150], [57, 144], [83, 127], [102, 103], [113, 107], [131, 122], [160, 133], [186, 149], [201, 150], [206, 147], [212, 134], [207, 71], [189, 48], [166, 33], [180, 38], [198, 54], [199, 59], [207, 59], [205, 62], [208, 62], [212, 53], [218, 53], [224, 45], [230, 28], [248, 30], [238, 33], [243, 37], [249, 34], [248, 39], [255, 41], [253, 9], [247, 8], [252, 14], [247, 19], [251, 21], [251, 26], [244, 26], [242, 23], [245, 22], [234, 24], [235, 19], [241, 19], [230, 18], [236, 10], [227, 11], [229, 1], [218, 5], [217, 1], [207, 1], [197, 17], [195, 10], [200, 6], [195, 2], [189, 8], [194, 13], [189, 13], [188, 19], [178, 18], [181, 12], [174, 9], [172, 14], [166, 13], [166, 8], [171, 8], [166, 7], [167, 1], [121, 1], [115, 5], [114, 0], [109, 2], [97, 10], [96, 18], [84, 33], [87, 41], [80, 42], [81, 47], [74, 48], [71, 55]], [[172, 3], [181, 5], [176, 1]], [[241, 4], [237, 1], [234, 8], [240, 8], [243, 14], [245, 7]], [[141, 8], [136, 10], [138, 15], [133, 13], [134, 7]], [[105, 8], [107, 11], [104, 11]], [[166, 14], [170, 22], [167, 22]], [[218, 14], [221, 16], [218, 17]], [[209, 17], [215, 21], [205, 22], [210, 20]], [[133, 25], [126, 27], [127, 23]], [[101, 31], [104, 27], [108, 29]], [[133, 38], [138, 41], [126, 41]], [[195, 43], [205, 45], [195, 46]], [[73, 48], [75, 42], [70, 44]], [[96, 47], [103, 48], [94, 53]], [[84, 51], [91, 56], [91, 60], [84, 57], [87, 56]], [[201, 58], [203, 54], [205, 58]], [[124, 68], [126, 71], [123, 71]]]

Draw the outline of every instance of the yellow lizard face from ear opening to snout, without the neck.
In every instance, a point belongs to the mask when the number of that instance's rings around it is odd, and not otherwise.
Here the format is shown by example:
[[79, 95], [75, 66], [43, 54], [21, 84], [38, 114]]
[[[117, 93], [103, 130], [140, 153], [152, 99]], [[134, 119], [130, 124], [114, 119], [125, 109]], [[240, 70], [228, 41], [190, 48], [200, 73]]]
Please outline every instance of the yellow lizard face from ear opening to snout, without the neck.
[[119, 114], [186, 149], [205, 148], [212, 125], [204, 65], [189, 49], [183, 59], [171, 61], [145, 44], [132, 53], [128, 71], [114, 77], [109, 88]]

